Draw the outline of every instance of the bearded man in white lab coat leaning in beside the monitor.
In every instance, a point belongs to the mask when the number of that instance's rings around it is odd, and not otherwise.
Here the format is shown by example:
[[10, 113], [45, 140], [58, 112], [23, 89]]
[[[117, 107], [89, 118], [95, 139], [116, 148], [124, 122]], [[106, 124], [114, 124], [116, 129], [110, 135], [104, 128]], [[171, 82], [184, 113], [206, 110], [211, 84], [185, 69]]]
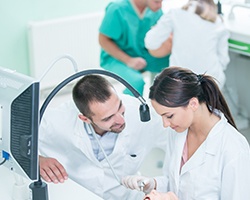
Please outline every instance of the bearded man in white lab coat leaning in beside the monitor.
[[79, 80], [73, 99], [75, 104], [67, 102], [47, 110], [41, 121], [42, 178], [57, 183], [69, 177], [105, 200], [143, 199], [143, 192], [125, 188], [120, 179], [137, 173], [154, 147], [165, 148], [161, 118], [151, 109], [151, 120], [141, 122], [138, 99], [119, 97], [98, 75]]

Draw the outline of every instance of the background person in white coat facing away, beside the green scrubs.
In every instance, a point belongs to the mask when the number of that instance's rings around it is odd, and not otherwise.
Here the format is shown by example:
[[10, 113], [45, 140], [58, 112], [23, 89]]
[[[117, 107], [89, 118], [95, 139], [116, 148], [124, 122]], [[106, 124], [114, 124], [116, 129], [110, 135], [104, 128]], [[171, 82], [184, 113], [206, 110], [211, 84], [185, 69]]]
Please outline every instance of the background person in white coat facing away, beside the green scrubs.
[[197, 74], [211, 75], [222, 89], [226, 80], [224, 71], [230, 61], [230, 34], [222, 17], [217, 14], [214, 1], [190, 0], [182, 8], [169, 10], [147, 32], [146, 48], [156, 57], [169, 53], [165, 41], [171, 34], [169, 66], [181, 66]]

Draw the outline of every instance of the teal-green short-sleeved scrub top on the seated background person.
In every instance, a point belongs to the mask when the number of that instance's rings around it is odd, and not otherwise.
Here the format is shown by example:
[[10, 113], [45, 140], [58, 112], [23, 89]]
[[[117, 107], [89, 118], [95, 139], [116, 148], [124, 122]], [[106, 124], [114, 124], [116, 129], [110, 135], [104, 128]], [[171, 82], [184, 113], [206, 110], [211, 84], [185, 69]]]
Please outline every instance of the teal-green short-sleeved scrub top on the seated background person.
[[[162, 14], [161, 9], [153, 12], [147, 8], [144, 15], [140, 17], [130, 0], [111, 2], [106, 7], [106, 14], [99, 31], [111, 38], [120, 49], [131, 57], [144, 58], [147, 62], [145, 71], [160, 72], [163, 68], [169, 66], [169, 56], [163, 58], [151, 56], [145, 48], [144, 38]], [[111, 65], [120, 62], [103, 49], [100, 59], [101, 66], [105, 66], [105, 68], [112, 67]]]

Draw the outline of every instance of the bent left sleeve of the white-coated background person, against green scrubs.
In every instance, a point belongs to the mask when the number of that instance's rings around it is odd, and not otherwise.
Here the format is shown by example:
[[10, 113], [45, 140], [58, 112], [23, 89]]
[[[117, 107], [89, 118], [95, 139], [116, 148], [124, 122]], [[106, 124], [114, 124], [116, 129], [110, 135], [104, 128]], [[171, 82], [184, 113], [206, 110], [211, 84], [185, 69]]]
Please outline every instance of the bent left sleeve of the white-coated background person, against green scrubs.
[[146, 33], [145, 47], [151, 50], [160, 48], [172, 32], [172, 26], [171, 12], [162, 15], [157, 24]]

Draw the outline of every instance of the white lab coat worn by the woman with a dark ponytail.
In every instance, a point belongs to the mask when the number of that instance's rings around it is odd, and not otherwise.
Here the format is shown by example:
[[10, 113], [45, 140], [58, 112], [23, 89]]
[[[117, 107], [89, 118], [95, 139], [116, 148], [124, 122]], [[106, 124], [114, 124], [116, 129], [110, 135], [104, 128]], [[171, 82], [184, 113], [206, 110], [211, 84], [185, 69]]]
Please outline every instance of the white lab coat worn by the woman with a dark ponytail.
[[157, 178], [157, 190], [173, 191], [179, 200], [250, 199], [249, 144], [224, 115], [180, 171], [186, 135], [168, 134], [165, 177]]

